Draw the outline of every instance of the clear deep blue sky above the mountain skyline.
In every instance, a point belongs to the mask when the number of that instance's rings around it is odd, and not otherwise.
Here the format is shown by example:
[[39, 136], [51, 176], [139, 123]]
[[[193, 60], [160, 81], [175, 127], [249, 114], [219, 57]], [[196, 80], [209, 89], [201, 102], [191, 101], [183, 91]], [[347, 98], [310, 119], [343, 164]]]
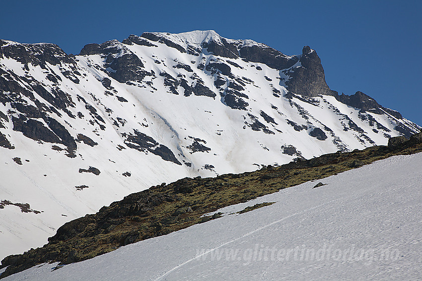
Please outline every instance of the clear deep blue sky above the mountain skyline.
[[362, 91], [422, 125], [421, 15], [421, 0], [9, 0], [1, 3], [0, 38], [52, 42], [72, 54], [145, 31], [213, 29], [286, 55], [309, 45], [331, 89]]

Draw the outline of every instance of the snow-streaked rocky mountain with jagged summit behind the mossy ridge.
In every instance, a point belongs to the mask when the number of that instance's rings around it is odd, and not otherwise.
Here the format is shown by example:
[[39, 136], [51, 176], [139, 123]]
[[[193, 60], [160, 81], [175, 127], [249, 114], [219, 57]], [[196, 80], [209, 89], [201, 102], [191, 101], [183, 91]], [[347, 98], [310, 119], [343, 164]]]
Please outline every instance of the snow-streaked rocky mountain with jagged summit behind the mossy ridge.
[[161, 182], [385, 145], [421, 127], [286, 56], [214, 31], [88, 44], [0, 40], [0, 256]]

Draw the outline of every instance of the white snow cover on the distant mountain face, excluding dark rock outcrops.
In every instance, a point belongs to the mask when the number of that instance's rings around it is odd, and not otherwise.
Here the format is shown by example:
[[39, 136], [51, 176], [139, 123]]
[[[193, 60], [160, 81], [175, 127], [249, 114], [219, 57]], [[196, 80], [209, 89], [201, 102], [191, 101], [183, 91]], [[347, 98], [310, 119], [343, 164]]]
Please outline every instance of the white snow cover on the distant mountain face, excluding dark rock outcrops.
[[[219, 38], [213, 31], [161, 35], [177, 44], [183, 43], [183, 46], [200, 46], [202, 42]], [[331, 96], [287, 99], [283, 96], [287, 90], [282, 82], [287, 76], [266, 64], [213, 56], [207, 52], [193, 56], [164, 43], [150, 43], [157, 47], [125, 45], [117, 40], [107, 42], [110, 48], [119, 50], [114, 58], [135, 54], [143, 63], [143, 70], [151, 74], [131, 83], [120, 83], [109, 76], [115, 70], [106, 67], [107, 56], [76, 56], [75, 64], [47, 63], [47, 69], [31, 63], [25, 69], [25, 65], [15, 58], [0, 58], [0, 68], [8, 73], [3, 74], [3, 78], [17, 79], [20, 86], [32, 92], [35, 100], [47, 108], [53, 108], [53, 105], [31, 88], [34, 81], [38, 81], [47, 92], [53, 93], [54, 89], [65, 92], [74, 103], [74, 107], [67, 108], [74, 118], [61, 109], [57, 110], [60, 116], [55, 112], [46, 112], [47, 115], [61, 123], [73, 138], [83, 134], [98, 143], [91, 147], [78, 142], [76, 157], [69, 158], [65, 156], [66, 151], [59, 151], [57, 147], [52, 149], [53, 145], [65, 149], [64, 145], [35, 141], [13, 130], [11, 119], [18, 117], [19, 112], [10, 103], [0, 103], [0, 111], [8, 116], [8, 120], [0, 118], [0, 133], [15, 147], [0, 147], [0, 201], [29, 204], [31, 210], [41, 212], [23, 213], [14, 205], [0, 209], [0, 260], [10, 254], [40, 247], [66, 222], [95, 213], [113, 201], [152, 185], [185, 176], [252, 171], [264, 165], [282, 165], [297, 157], [309, 159], [338, 150], [386, 145], [388, 137], [400, 135], [395, 130], [398, 123], [413, 126], [415, 132], [420, 128], [388, 113], [360, 113], [359, 109], [346, 106]], [[44, 45], [7, 41], [3, 47], [16, 44], [33, 53], [40, 52], [37, 48]], [[227, 64], [237, 80], [221, 75], [226, 80], [222, 87], [227, 88], [230, 82], [243, 81], [244, 90], [241, 92], [248, 97], [244, 98], [248, 103], [246, 110], [225, 105], [224, 93], [214, 85], [216, 74], [200, 69], [201, 64], [227, 61], [239, 66]], [[178, 68], [181, 63], [190, 66], [192, 72]], [[258, 66], [262, 70], [258, 70]], [[203, 83], [216, 97], [194, 94], [186, 97], [181, 86], [177, 87], [179, 94], [175, 95], [165, 86], [164, 77], [159, 75], [162, 72], [176, 78], [184, 77], [191, 87]], [[70, 79], [72, 75], [79, 79], [79, 83]], [[52, 82], [53, 76], [60, 81]], [[102, 85], [105, 78], [111, 80], [114, 90]], [[122, 102], [122, 98], [127, 102]], [[34, 100], [24, 95], [19, 99], [26, 105], [37, 106]], [[104, 122], [89, 109], [94, 109]], [[262, 112], [274, 122], [266, 119]], [[362, 119], [362, 115], [366, 119]], [[369, 117], [376, 123], [370, 122]], [[47, 127], [42, 118], [33, 119]], [[259, 130], [252, 128], [257, 120], [267, 132], [262, 127]], [[300, 130], [294, 129], [292, 122]], [[351, 122], [363, 131], [351, 129]], [[311, 137], [309, 133], [314, 128], [325, 131], [327, 139]], [[142, 152], [128, 147], [124, 136], [134, 134], [134, 130], [168, 147], [182, 165], [164, 161], [147, 150]], [[210, 150], [192, 151], [195, 139]], [[294, 147], [296, 152], [284, 153], [288, 147]], [[21, 159], [22, 165], [12, 160], [15, 157]], [[79, 172], [79, 169], [89, 167], [97, 168], [101, 173]], [[125, 172], [130, 172], [131, 176], [124, 176]], [[81, 185], [88, 188], [75, 188]]]

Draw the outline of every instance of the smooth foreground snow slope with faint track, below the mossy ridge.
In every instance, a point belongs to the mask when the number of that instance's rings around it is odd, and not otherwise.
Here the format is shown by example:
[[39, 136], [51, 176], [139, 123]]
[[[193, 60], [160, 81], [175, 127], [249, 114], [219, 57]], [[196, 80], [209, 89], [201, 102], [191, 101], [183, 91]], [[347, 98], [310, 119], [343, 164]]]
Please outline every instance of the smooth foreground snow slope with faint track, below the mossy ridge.
[[421, 165], [422, 153], [394, 156], [219, 211], [271, 206], [4, 280], [421, 280]]

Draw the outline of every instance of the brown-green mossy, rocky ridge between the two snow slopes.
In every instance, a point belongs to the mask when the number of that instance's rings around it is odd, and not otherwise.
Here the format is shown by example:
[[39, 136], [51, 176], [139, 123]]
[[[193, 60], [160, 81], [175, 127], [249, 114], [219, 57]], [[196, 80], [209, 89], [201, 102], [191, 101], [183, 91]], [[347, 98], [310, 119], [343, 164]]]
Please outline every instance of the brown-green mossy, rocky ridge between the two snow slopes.
[[[201, 216], [225, 206], [394, 155], [418, 152], [422, 152], [422, 133], [413, 135], [410, 140], [392, 138], [388, 147], [337, 152], [253, 172], [223, 174], [214, 178], [183, 178], [167, 185], [152, 186], [101, 208], [95, 215], [86, 215], [61, 226], [41, 248], [4, 258], [0, 268], [8, 267], [0, 279], [45, 262], [70, 264], [90, 259], [120, 246], [217, 219], [218, 214]], [[270, 203], [244, 211], [267, 205]]]

